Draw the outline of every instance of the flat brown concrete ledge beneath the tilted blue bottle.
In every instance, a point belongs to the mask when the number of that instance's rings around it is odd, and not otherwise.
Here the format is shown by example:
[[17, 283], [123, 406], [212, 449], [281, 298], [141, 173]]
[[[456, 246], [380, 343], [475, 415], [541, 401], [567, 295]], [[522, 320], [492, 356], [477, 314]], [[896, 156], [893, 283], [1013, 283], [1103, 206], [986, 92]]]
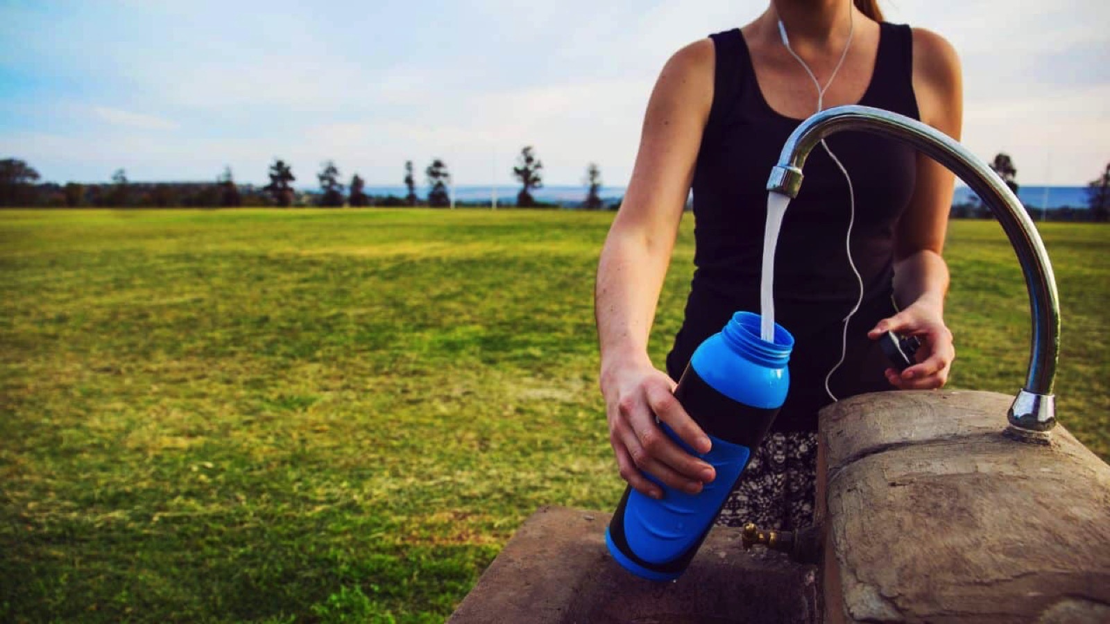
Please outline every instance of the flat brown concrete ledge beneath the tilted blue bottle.
[[605, 548], [609, 514], [541, 507], [451, 616], [472, 623], [693, 624], [813, 622], [815, 567], [744, 552], [714, 529], [676, 582], [633, 576]]

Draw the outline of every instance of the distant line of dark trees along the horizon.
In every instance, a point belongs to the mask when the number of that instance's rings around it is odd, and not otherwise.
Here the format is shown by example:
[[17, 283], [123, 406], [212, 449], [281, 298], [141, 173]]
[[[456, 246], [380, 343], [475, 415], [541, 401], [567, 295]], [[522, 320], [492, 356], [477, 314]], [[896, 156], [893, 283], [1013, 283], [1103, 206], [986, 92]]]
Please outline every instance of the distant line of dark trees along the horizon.
[[[1005, 153], [999, 153], [990, 163], [990, 168], [1012, 190], [1018, 192], [1018, 170], [1013, 160]], [[533, 191], [543, 188], [543, 162], [536, 155], [532, 145], [521, 149], [513, 177], [521, 183], [516, 194], [516, 205], [521, 208], [544, 208], [535, 199]], [[39, 172], [27, 162], [8, 158], [0, 160], [0, 207], [48, 207], [48, 208], [236, 208], [263, 205], [321, 205], [321, 207], [415, 207], [430, 205], [445, 208], [452, 204], [451, 172], [442, 159], [433, 159], [424, 169], [427, 194], [422, 200], [417, 194], [416, 172], [413, 162], [404, 164], [403, 183], [406, 190], [404, 197], [371, 195], [365, 192], [366, 182], [357, 173], [349, 184], [343, 184], [339, 167], [333, 161], [321, 165], [316, 174], [320, 191], [316, 193], [297, 192], [293, 188], [296, 177], [293, 168], [281, 159], [268, 170], [270, 183], [255, 188], [251, 184], [236, 184], [231, 168], [224, 168], [214, 183], [211, 182], [131, 182], [122, 169], [112, 174], [110, 183], [80, 184], [69, 182], [57, 184], [40, 183]], [[602, 174], [596, 163], [586, 167], [583, 179], [585, 197], [581, 207], [589, 210], [615, 209], [615, 204], [606, 204], [601, 197]], [[456, 202], [462, 205], [462, 202]], [[485, 202], [483, 202], [485, 203]], [[1077, 207], [1078, 208], [1078, 207]], [[1102, 174], [1087, 185], [1088, 211], [1077, 211], [1070, 208], [1054, 209], [1047, 215], [1056, 220], [1091, 220], [1106, 222], [1110, 220], [1110, 163], [1107, 163]], [[1032, 212], [1035, 208], [1027, 208]], [[990, 210], [981, 202], [972, 201], [952, 205], [951, 215], [957, 219], [991, 219]], [[1045, 218], [1045, 213], [1041, 218]], [[1036, 215], [1033, 215], [1036, 217]]]

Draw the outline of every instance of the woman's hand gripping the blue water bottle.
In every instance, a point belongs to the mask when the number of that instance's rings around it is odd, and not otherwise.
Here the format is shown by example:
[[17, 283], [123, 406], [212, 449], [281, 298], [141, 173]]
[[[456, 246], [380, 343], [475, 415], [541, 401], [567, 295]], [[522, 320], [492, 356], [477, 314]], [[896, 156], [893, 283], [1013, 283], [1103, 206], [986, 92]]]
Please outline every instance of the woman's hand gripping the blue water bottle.
[[620, 476], [653, 499], [662, 499], [663, 489], [646, 475], [690, 494], [716, 477], [712, 465], [684, 451], [656, 422], [658, 417], [666, 423], [698, 453], [709, 452], [709, 437], [675, 399], [675, 385], [650, 364], [624, 365], [602, 374], [609, 444]]

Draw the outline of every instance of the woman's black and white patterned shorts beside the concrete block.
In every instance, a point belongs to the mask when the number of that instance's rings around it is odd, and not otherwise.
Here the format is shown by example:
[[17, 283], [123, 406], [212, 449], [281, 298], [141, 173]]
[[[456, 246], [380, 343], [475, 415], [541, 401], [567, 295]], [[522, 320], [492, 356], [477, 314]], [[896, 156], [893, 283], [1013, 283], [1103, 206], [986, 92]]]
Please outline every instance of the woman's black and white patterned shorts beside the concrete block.
[[817, 433], [768, 433], [725, 502], [717, 524], [794, 531], [814, 523]]

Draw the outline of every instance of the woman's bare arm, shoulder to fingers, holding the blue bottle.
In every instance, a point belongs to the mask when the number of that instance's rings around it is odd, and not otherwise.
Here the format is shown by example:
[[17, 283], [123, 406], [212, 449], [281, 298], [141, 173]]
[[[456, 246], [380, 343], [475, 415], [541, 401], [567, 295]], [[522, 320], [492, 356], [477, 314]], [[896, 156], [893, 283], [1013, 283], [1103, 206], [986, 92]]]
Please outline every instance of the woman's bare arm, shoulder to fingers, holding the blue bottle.
[[705, 39], [676, 52], [664, 67], [644, 117], [632, 181], [597, 266], [599, 381], [609, 443], [620, 476], [653, 497], [663, 491], [645, 472], [690, 493], [715, 476], [713, 466], [687, 454], [656, 425], [658, 416], [699, 453], [709, 450], [709, 439], [675, 400], [675, 382], [647, 355], [713, 103], [714, 66], [714, 44]]

